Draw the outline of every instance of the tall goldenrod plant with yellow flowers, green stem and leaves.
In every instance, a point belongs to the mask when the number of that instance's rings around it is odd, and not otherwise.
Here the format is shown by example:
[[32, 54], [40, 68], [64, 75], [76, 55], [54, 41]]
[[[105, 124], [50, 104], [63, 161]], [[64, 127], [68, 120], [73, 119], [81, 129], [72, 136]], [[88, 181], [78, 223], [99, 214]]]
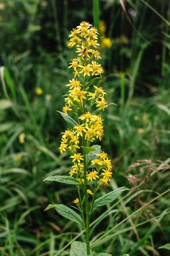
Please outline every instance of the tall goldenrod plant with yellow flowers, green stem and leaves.
[[[68, 68], [73, 69], [74, 78], [70, 80], [68, 94], [65, 96], [65, 106], [59, 112], [71, 129], [62, 132], [60, 153], [65, 151], [71, 153], [73, 166], [69, 176], [49, 176], [45, 180], [77, 186], [77, 198], [74, 199], [73, 209], [63, 205], [49, 205], [46, 209], [55, 208], [65, 218], [77, 222], [85, 230], [86, 244], [75, 241], [71, 245], [71, 256], [100, 255], [107, 253], [92, 253], [89, 241], [89, 225], [91, 214], [101, 206], [116, 200], [119, 195], [127, 190], [120, 187], [101, 197], [96, 197], [96, 192], [102, 186], [108, 185], [112, 177], [112, 164], [108, 154], [101, 151], [101, 146], [91, 145], [96, 139], [102, 140], [104, 129], [102, 117], [99, 115], [110, 103], [105, 99], [106, 92], [102, 87], [97, 87], [96, 79], [102, 78], [104, 72], [98, 63], [100, 53], [98, 31], [88, 22], [81, 22], [69, 35], [71, 47], [76, 46], [77, 57], [71, 60]], [[74, 113], [75, 119], [68, 115]], [[82, 251], [85, 254], [82, 254]]]

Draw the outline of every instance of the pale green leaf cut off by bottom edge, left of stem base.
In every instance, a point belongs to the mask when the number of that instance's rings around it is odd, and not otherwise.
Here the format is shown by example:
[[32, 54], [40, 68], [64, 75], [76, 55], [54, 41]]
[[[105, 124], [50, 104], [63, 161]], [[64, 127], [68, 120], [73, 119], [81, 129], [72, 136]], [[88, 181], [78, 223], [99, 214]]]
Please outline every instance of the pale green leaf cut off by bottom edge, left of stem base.
[[86, 244], [79, 241], [74, 241], [71, 244], [70, 256], [87, 256]]

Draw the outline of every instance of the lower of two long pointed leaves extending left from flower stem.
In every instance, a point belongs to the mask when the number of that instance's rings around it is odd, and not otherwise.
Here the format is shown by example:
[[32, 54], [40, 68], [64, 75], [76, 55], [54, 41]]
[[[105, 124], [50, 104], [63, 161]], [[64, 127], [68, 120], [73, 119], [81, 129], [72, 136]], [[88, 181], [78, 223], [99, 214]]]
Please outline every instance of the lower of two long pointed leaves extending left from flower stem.
[[[83, 220], [77, 212], [74, 212], [74, 210], [70, 209], [69, 207], [67, 207], [64, 204], [54, 204], [54, 208], [60, 215], [62, 215], [63, 217], [65, 217], [71, 221], [74, 221], [74, 222], [80, 224], [82, 226], [82, 228], [84, 229]], [[48, 209], [50, 209], [50, 208], [48, 208]]]

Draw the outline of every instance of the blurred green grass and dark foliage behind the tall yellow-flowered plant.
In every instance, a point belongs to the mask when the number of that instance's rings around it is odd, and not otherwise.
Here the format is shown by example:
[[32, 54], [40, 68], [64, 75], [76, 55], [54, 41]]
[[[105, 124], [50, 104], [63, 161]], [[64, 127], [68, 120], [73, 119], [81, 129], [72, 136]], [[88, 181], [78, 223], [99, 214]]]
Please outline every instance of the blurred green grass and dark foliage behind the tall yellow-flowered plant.
[[[92, 241], [170, 187], [170, 1], [1, 0], [2, 256], [69, 255], [69, 246], [62, 248], [81, 231], [52, 209], [44, 212], [48, 204], [71, 206], [76, 188], [43, 180], [68, 175], [71, 167], [69, 155], [59, 154], [67, 124], [56, 111], [62, 110], [65, 84], [73, 78], [68, 63], [76, 54], [68, 47], [68, 34], [82, 20], [99, 29], [105, 73], [96, 85], [117, 104], [102, 113], [105, 136], [99, 144], [113, 159], [113, 179], [100, 194], [142, 184], [129, 201], [120, 200], [115, 211], [96, 222]], [[135, 165], [127, 177], [128, 166], [137, 160], [150, 162]], [[100, 208], [92, 221], [105, 210]], [[169, 255], [158, 250], [170, 241], [169, 210], [168, 193], [112, 232], [121, 234], [93, 249], [119, 256]], [[131, 231], [124, 232], [127, 227]]]

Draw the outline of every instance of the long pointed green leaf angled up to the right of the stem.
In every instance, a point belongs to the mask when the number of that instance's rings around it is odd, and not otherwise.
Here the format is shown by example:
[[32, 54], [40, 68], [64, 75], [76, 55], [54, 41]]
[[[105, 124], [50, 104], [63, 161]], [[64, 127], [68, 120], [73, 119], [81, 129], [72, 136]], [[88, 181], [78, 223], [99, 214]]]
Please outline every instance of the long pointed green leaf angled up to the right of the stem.
[[91, 210], [91, 212], [93, 212], [94, 210], [96, 210], [98, 207], [100, 206], [103, 206], [103, 205], [106, 205], [106, 204], [109, 204], [111, 202], [113, 202], [114, 200], [116, 200], [119, 195], [122, 194], [123, 191], [125, 190], [129, 190], [127, 189], [125, 186], [124, 187], [121, 187], [121, 188], [118, 188], [118, 189], [115, 189], [113, 191], [111, 191], [110, 193], [106, 194], [106, 195], [103, 195], [101, 196], [100, 198], [96, 199], [94, 201], [94, 205], [93, 205], [93, 208]]

